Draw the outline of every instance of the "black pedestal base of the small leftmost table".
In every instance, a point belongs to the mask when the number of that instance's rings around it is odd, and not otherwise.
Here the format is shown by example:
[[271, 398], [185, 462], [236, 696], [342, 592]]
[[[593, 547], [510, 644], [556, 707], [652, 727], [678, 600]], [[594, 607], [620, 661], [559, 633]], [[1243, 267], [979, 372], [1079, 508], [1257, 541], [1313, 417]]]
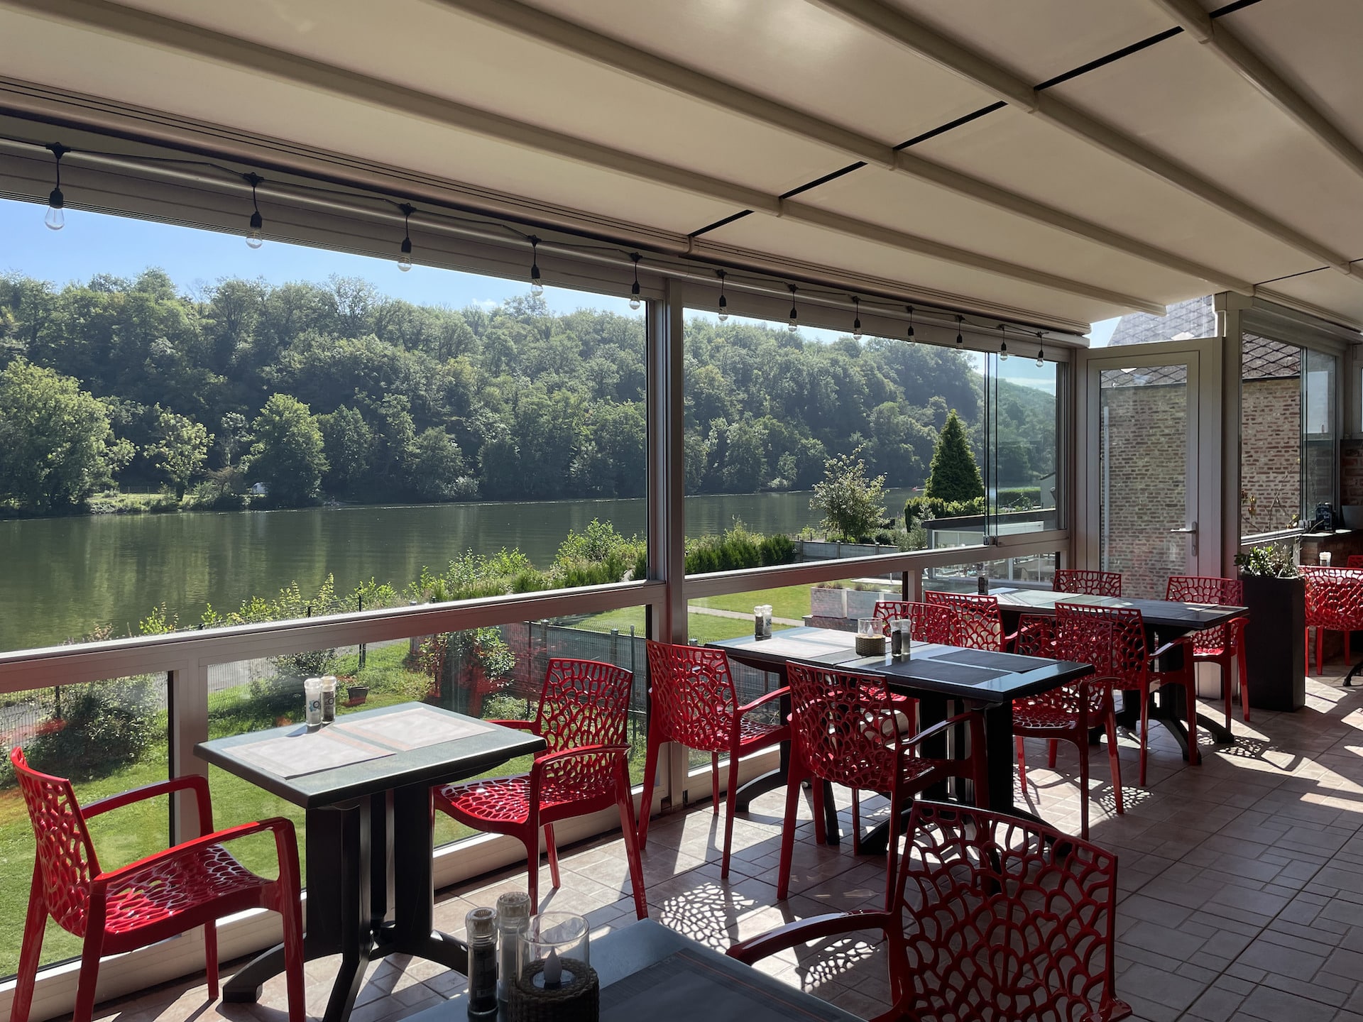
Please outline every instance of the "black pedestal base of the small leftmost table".
[[[431, 788], [410, 785], [307, 812], [308, 929], [304, 958], [341, 955], [324, 1022], [354, 1007], [369, 962], [406, 954], [468, 972], [468, 947], [435, 929]], [[388, 898], [390, 864], [393, 899]], [[391, 921], [386, 921], [391, 909]], [[224, 1000], [254, 1002], [284, 972], [284, 946], [254, 958], [224, 984]]]

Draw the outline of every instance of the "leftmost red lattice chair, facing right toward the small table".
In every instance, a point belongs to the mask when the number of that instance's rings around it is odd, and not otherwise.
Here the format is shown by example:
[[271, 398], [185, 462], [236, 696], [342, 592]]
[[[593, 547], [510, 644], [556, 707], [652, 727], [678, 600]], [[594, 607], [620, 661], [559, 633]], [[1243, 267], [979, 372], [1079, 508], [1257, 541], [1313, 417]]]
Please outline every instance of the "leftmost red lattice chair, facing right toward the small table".
[[[33, 864], [29, 916], [15, 981], [11, 1022], [27, 1022], [33, 981], [42, 954], [48, 916], [85, 939], [72, 1022], [90, 1022], [99, 959], [203, 927], [209, 997], [218, 999], [217, 920], [247, 909], [270, 909], [284, 918], [284, 961], [289, 1022], [304, 1022], [303, 913], [298, 895], [298, 846], [293, 824], [282, 818], [213, 830], [209, 781], [177, 777], [82, 807], [71, 782], [27, 764], [22, 749], [10, 751], [23, 801], [38, 842]], [[86, 820], [110, 809], [170, 792], [192, 790], [200, 837], [139, 858], [120, 869], [99, 868]], [[279, 879], [256, 876], [222, 846], [226, 841], [271, 831]]]

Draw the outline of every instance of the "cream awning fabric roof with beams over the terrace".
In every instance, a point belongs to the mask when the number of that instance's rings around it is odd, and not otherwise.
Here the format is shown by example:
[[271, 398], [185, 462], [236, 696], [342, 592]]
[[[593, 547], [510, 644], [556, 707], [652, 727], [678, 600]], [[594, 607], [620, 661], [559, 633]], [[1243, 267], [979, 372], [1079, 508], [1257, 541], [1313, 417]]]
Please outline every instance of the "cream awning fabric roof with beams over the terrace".
[[1356, 0], [0, 0], [0, 136], [1069, 332], [1213, 292], [1358, 328], [1359, 40]]

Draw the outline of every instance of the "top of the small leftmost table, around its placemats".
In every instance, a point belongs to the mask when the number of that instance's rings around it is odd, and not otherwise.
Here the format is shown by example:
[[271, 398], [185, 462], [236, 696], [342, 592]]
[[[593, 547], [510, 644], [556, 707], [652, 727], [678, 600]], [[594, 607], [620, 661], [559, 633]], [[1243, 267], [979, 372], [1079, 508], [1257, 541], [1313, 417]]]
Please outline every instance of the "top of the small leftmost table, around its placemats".
[[401, 743], [383, 741], [367, 734], [364, 736], [367, 744], [383, 748], [384, 751], [391, 748], [393, 754], [380, 759], [365, 759], [358, 763], [348, 763], [298, 777], [281, 777], [258, 763], [236, 755], [234, 749], [270, 739], [296, 737], [305, 741], [309, 734], [324, 733], [334, 725], [327, 725], [322, 732], [308, 732], [301, 724], [290, 724], [284, 728], [271, 728], [270, 730], [200, 741], [194, 747], [194, 751], [200, 759], [206, 759], [209, 763], [222, 767], [230, 774], [245, 778], [258, 788], [263, 788], [285, 801], [301, 805], [305, 809], [315, 809], [406, 785], [448, 784], [466, 777], [476, 777], [506, 763], [508, 759], [515, 759], [527, 752], [538, 752], [545, 747], [544, 739], [530, 732], [502, 728], [487, 721], [442, 710], [436, 706], [427, 706], [425, 703], [399, 703], [375, 710], [363, 710], [361, 713], [348, 713], [338, 717], [337, 722], [363, 726], [367, 722], [372, 724], [390, 714], [414, 709], [440, 714], [450, 718], [451, 722], [468, 726], [476, 725], [477, 730], [453, 741], [442, 741], [418, 748], [402, 748]]

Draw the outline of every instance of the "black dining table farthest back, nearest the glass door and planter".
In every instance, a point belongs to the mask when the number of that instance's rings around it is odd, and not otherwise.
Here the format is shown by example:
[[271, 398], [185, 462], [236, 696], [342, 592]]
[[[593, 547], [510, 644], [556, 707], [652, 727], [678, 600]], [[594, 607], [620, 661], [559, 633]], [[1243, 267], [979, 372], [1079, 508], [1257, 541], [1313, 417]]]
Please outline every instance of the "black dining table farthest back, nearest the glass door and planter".
[[[1005, 631], [1017, 631], [1018, 619], [1022, 615], [1055, 616], [1056, 604], [1085, 604], [1089, 606], [1119, 606], [1141, 612], [1141, 621], [1145, 624], [1145, 634], [1149, 649], [1154, 650], [1164, 642], [1178, 639], [1183, 635], [1214, 628], [1219, 624], [1249, 613], [1246, 606], [1229, 606], [1220, 604], [1180, 604], [1174, 600], [1133, 600], [1127, 597], [1101, 597], [1082, 593], [1055, 593], [1048, 589], [990, 589], [990, 595], [999, 601], [999, 615], [1003, 617]], [[1193, 665], [1182, 662], [1182, 651], [1174, 650], [1168, 655], [1168, 662], [1161, 664], [1161, 670], [1176, 673], [1189, 669], [1189, 684], [1195, 684]], [[1164, 688], [1152, 694], [1150, 719], [1160, 721], [1174, 740], [1178, 741], [1183, 752], [1183, 759], [1189, 759], [1189, 728], [1183, 721], [1183, 699], [1171, 698]], [[1118, 724], [1133, 730], [1139, 718], [1139, 692], [1122, 694], [1122, 711], [1118, 713]], [[1220, 719], [1199, 713], [1197, 726], [1212, 736], [1217, 745], [1234, 744], [1235, 736]]]

